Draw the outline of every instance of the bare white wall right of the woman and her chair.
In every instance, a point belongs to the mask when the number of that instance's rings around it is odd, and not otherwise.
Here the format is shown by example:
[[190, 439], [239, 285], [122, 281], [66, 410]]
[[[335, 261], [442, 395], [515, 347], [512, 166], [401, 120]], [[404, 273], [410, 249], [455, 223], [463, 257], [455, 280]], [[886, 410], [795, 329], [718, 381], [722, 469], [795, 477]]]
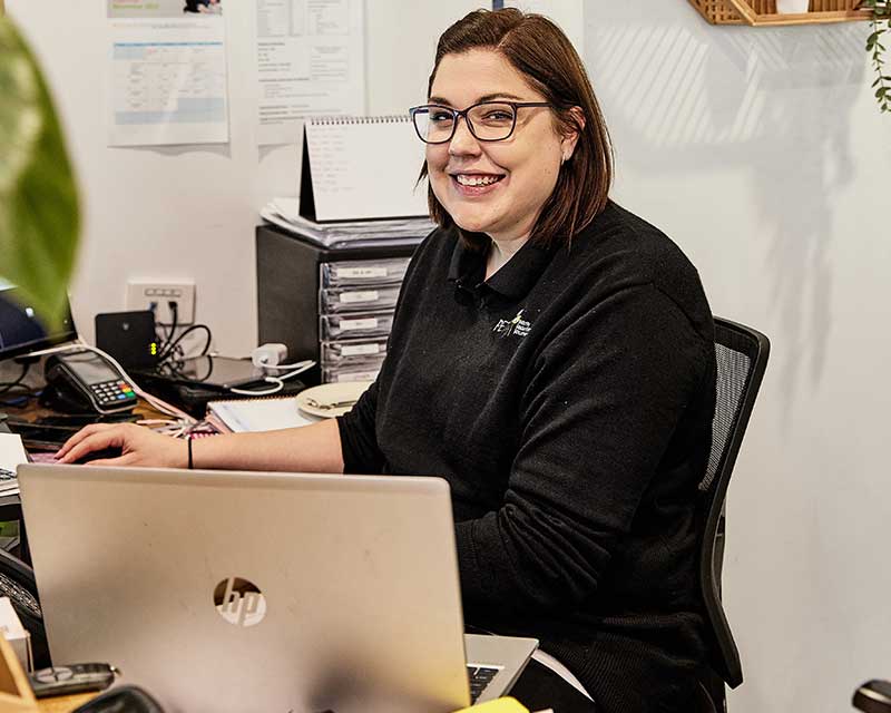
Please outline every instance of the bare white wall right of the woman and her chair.
[[[891, 116], [865, 23], [712, 27], [686, 0], [587, 2], [616, 197], [771, 361], [728, 496], [732, 711], [846, 711], [891, 678], [885, 355]], [[884, 216], [882, 216], [884, 214]]]

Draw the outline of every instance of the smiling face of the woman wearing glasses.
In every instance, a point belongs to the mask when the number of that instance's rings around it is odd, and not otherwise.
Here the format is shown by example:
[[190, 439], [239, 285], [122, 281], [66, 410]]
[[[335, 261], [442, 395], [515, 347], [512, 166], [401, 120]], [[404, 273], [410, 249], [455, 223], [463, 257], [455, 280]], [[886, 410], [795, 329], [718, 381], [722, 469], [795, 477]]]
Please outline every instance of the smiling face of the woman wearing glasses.
[[[546, 100], [503, 56], [483, 49], [443, 57], [430, 94], [430, 104], [453, 109]], [[449, 143], [427, 145], [430, 185], [459, 227], [497, 241], [528, 237], [576, 139], [557, 133], [548, 107], [518, 109], [513, 134], [501, 141], [477, 140], [462, 117]]]

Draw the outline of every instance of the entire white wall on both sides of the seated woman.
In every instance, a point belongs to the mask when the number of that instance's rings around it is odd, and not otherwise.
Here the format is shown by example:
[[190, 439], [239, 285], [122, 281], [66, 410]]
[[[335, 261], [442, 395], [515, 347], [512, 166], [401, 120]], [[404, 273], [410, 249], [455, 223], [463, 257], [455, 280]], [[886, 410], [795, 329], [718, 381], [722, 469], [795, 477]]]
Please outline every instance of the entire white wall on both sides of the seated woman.
[[[127, 277], [186, 277], [223, 352], [255, 343], [256, 209], [294, 192], [298, 157], [254, 145], [251, 4], [226, 4], [231, 145], [109, 149], [102, 3], [7, 2], [45, 60], [85, 192], [74, 304], [88, 335], [97, 311], [123, 309]], [[434, 38], [468, 3], [368, 6], [369, 110], [396, 111], [422, 98]], [[859, 682], [891, 677], [891, 117], [871, 98], [865, 33], [715, 28], [686, 0], [586, 3], [615, 196], [682, 245], [717, 314], [773, 342], [728, 502], [726, 608], [746, 676], [733, 711], [846, 711]]]

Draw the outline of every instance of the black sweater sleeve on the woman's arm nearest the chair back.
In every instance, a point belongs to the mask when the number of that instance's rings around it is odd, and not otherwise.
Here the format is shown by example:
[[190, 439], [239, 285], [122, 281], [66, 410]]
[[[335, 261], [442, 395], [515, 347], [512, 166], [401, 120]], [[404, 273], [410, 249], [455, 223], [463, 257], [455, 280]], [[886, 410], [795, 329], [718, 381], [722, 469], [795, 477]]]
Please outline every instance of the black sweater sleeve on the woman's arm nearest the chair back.
[[660, 463], [714, 374], [712, 345], [650, 284], [576, 306], [520, 394], [500, 509], [456, 526], [467, 604], [554, 611], [596, 596], [657, 471], [694, 497], [692, 470]]

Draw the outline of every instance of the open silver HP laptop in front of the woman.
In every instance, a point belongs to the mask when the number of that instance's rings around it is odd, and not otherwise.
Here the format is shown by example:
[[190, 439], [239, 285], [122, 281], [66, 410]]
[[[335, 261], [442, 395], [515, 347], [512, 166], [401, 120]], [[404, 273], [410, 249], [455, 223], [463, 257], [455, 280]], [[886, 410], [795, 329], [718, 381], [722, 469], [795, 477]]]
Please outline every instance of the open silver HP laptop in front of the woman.
[[[464, 636], [439, 478], [19, 467], [56, 665], [168, 713], [446, 713], [535, 639]], [[467, 646], [467, 648], [466, 648]]]

